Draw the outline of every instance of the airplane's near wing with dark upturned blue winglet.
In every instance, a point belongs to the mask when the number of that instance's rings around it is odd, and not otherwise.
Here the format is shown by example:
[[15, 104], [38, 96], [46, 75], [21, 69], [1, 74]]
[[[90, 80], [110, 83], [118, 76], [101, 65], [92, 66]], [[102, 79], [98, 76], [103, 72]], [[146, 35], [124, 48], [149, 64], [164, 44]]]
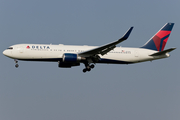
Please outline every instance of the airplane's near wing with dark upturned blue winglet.
[[117, 44], [119, 44], [120, 42], [126, 40], [129, 37], [132, 29], [133, 29], [133, 27], [129, 28], [129, 30], [123, 35], [123, 37], [120, 38], [117, 41], [114, 41], [114, 42], [111, 42], [109, 44], [106, 44], [106, 45], [103, 45], [103, 46], [100, 46], [100, 47], [97, 47], [97, 48], [94, 48], [94, 49], [79, 53], [78, 55], [81, 56], [81, 57], [91, 57], [91, 56], [95, 56], [97, 54], [105, 55], [109, 51], [113, 50], [116, 47]]

